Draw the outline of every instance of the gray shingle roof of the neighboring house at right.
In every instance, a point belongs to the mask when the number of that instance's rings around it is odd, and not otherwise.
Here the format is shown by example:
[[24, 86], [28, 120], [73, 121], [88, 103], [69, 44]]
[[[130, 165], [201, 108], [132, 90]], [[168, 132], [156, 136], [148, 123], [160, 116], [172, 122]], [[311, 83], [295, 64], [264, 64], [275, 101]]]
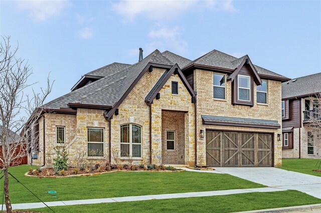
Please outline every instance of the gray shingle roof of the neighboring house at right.
[[321, 92], [321, 72], [293, 78], [282, 83], [282, 98], [308, 95], [317, 92]]

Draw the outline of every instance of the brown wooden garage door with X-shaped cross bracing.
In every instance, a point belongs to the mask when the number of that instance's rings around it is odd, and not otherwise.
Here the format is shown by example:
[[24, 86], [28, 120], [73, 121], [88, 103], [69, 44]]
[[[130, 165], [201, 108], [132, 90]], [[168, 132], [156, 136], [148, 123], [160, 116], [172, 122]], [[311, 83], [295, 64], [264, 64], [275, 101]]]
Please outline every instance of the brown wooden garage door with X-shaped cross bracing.
[[272, 166], [273, 134], [206, 130], [206, 164]]

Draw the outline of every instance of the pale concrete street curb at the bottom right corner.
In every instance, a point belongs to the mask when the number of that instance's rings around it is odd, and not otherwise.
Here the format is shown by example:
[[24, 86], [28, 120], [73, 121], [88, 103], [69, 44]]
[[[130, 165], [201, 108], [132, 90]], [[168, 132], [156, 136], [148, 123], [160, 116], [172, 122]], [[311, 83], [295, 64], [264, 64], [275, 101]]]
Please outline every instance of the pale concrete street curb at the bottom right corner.
[[261, 213], [261, 212], [302, 212], [302, 211], [321, 211], [321, 203], [311, 204], [311, 205], [297, 205], [297, 206], [289, 206], [289, 207], [281, 207], [281, 208], [270, 208], [270, 209], [261, 209], [261, 210], [253, 210], [253, 211], [239, 211], [236, 213], [247, 212], [247, 213]]

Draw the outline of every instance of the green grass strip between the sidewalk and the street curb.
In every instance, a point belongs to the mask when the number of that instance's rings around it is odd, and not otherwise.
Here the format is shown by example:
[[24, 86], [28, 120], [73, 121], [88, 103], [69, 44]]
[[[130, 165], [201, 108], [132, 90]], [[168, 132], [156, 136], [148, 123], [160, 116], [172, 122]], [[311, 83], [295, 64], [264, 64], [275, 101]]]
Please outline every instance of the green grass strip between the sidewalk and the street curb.
[[[321, 203], [306, 193], [288, 190], [220, 196], [158, 199], [131, 202], [51, 207], [55, 212], [235, 212]], [[33, 209], [52, 212], [49, 208]]]

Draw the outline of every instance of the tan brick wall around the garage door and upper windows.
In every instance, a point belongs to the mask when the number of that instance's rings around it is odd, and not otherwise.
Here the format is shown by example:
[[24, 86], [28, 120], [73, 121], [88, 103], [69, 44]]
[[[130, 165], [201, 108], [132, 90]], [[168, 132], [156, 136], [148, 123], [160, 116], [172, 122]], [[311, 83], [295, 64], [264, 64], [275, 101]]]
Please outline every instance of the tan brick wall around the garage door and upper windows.
[[[263, 78], [264, 79], [264, 78]], [[213, 97], [213, 72], [196, 69], [194, 71], [194, 90], [197, 92], [197, 132], [201, 129], [224, 129], [235, 131], [260, 131], [274, 133], [274, 165], [282, 164], [282, 141], [277, 140], [277, 134], [281, 134], [280, 129], [250, 128], [222, 125], [204, 125], [201, 115], [229, 116], [242, 118], [257, 118], [267, 120], [277, 120], [282, 124], [281, 118], [281, 82], [268, 80], [268, 103], [256, 103], [256, 85], [254, 83], [254, 106], [232, 105], [231, 102], [231, 81], [226, 82], [226, 99], [215, 99]], [[200, 162], [205, 164], [206, 159], [206, 136], [197, 137], [197, 154]], [[202, 155], [203, 157], [201, 157]]]

